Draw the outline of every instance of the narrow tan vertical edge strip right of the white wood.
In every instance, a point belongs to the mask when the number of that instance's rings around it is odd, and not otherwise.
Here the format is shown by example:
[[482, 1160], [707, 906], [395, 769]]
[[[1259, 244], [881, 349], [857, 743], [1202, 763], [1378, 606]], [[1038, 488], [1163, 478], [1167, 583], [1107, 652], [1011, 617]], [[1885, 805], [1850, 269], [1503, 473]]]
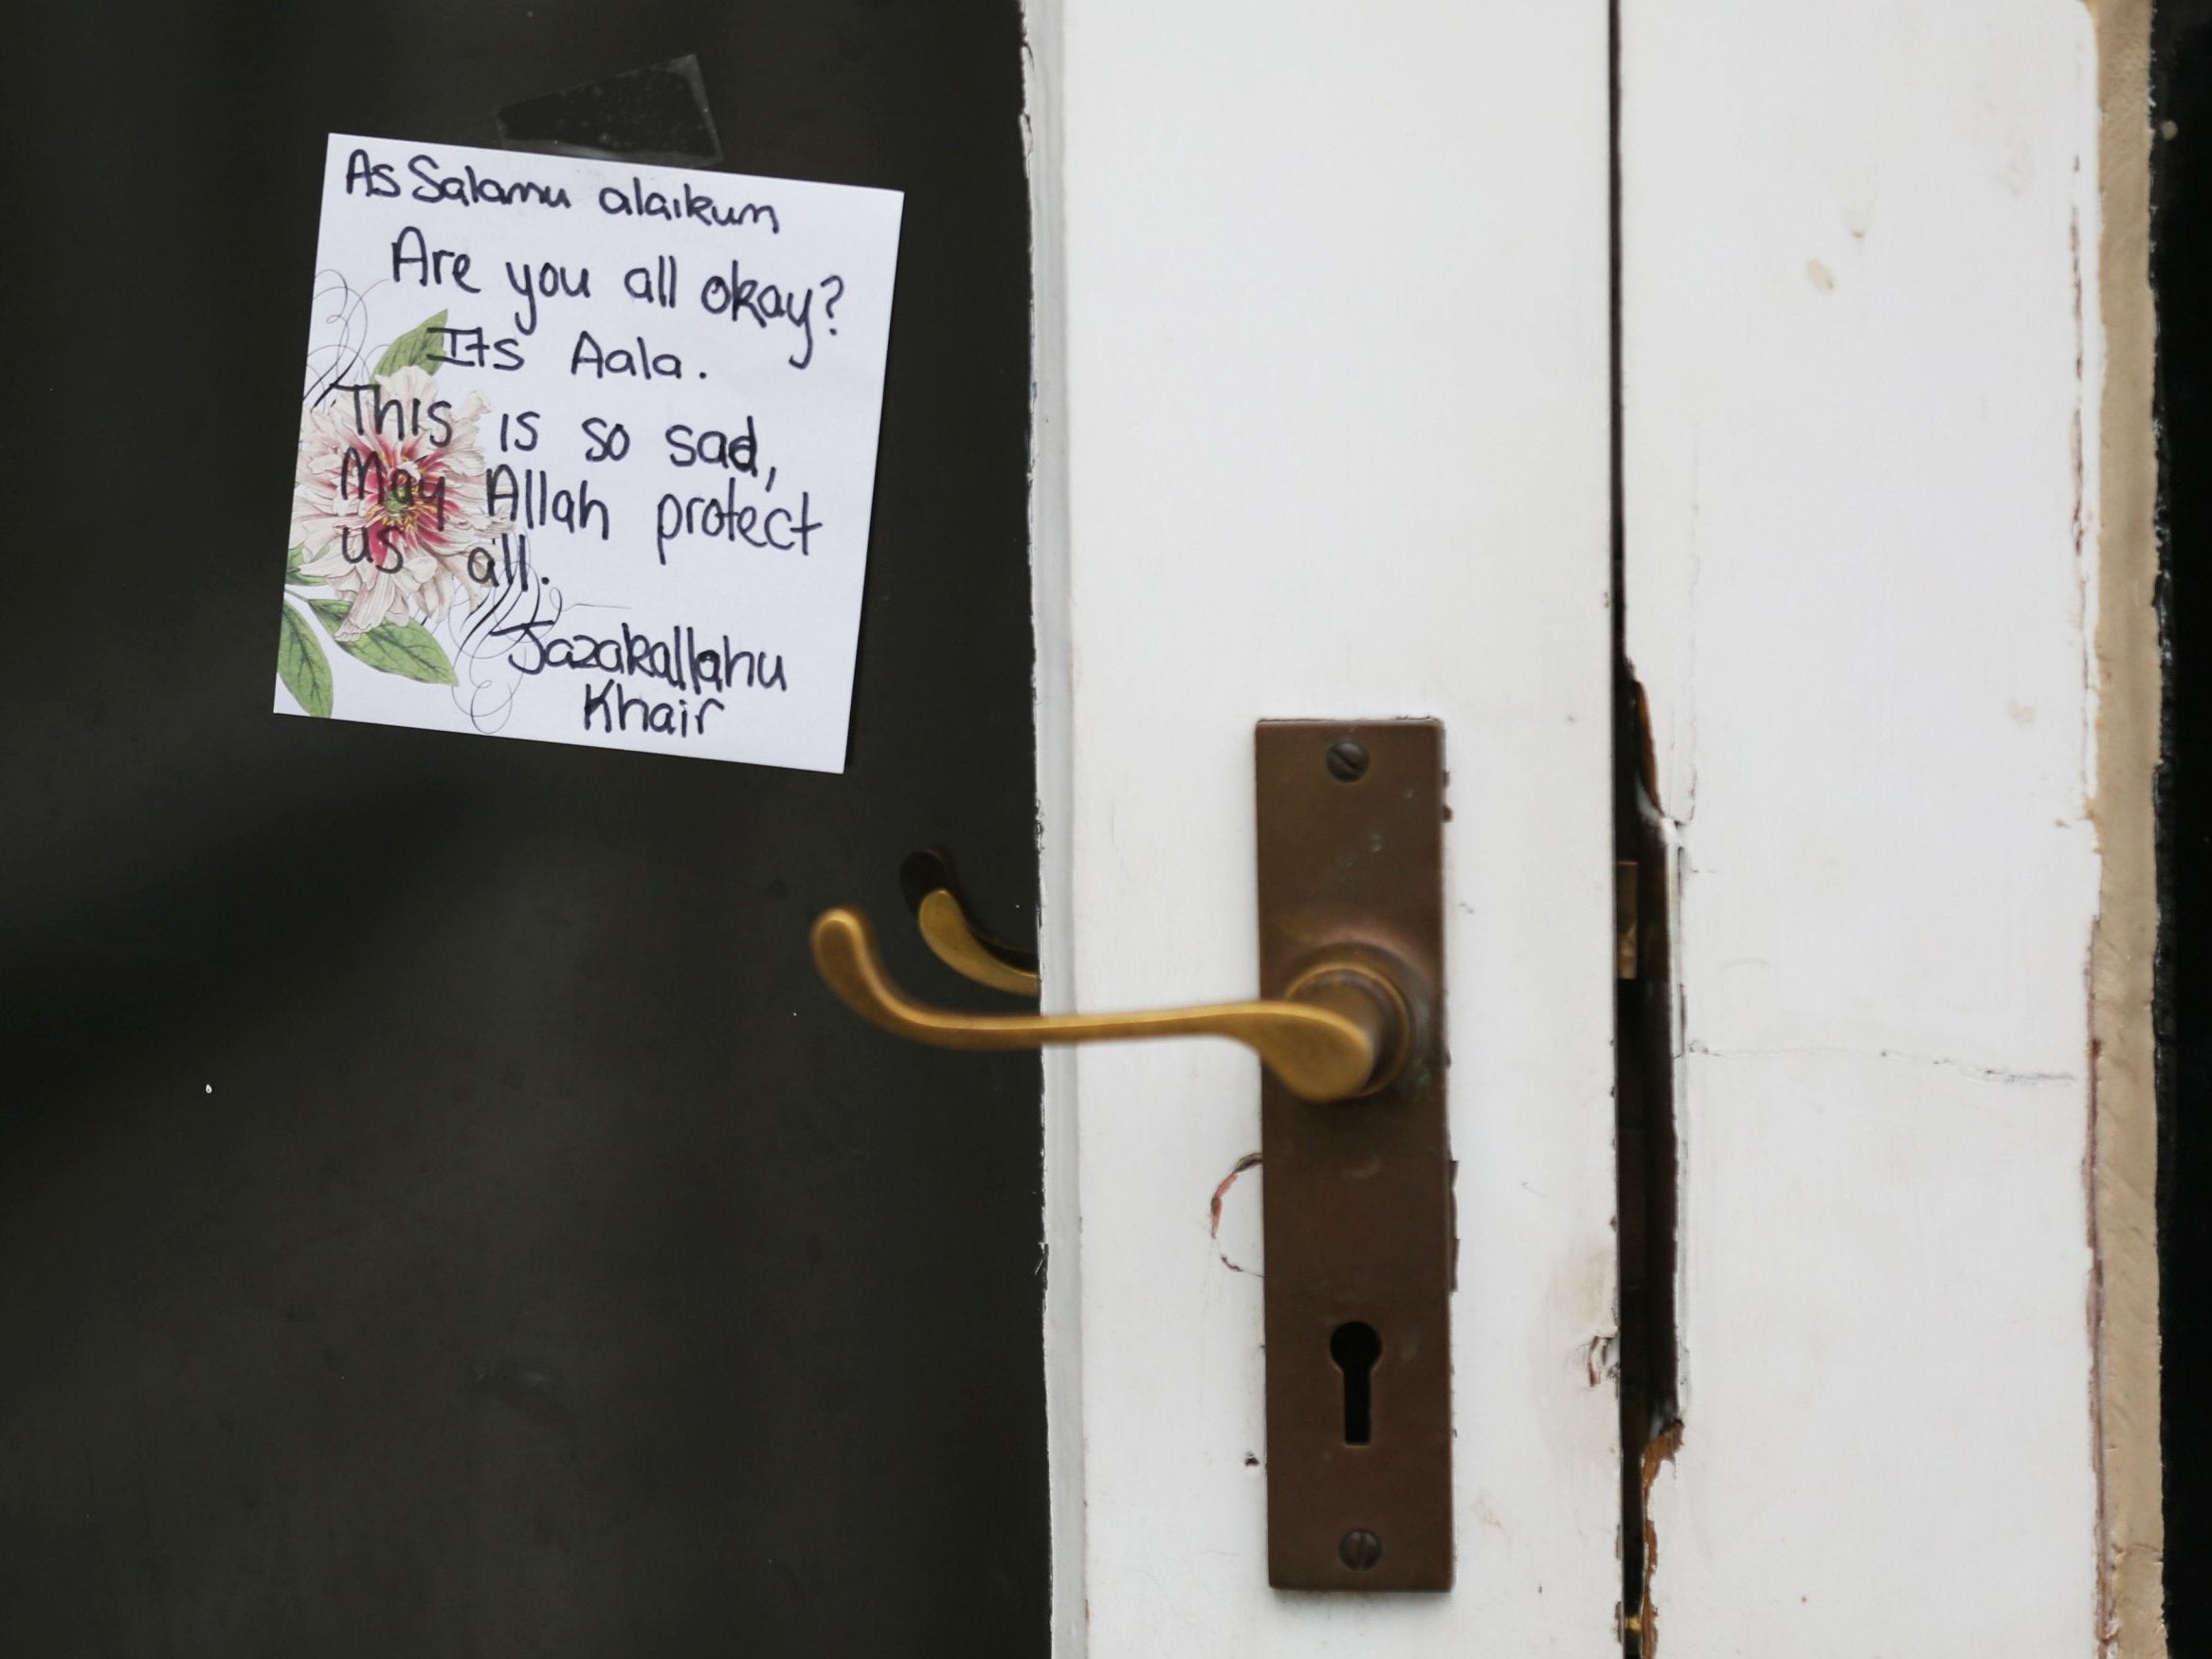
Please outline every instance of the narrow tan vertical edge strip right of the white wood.
[[2150, 0], [2086, 0], [2097, 40], [2097, 759], [2090, 818], [2090, 1318], [2099, 1646], [2163, 1659], [2157, 1088], [2157, 321], [2150, 294]]

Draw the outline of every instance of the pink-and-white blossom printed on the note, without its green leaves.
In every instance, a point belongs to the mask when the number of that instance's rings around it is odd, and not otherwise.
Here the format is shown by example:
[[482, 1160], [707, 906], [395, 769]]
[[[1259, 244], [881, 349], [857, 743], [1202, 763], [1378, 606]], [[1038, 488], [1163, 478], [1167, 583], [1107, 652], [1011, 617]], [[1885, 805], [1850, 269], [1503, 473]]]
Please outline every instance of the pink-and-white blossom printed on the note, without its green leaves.
[[[480, 392], [442, 403], [429, 374], [405, 367], [374, 396], [341, 389], [301, 416], [292, 535], [307, 549], [301, 573], [347, 602], [341, 641], [387, 622], [442, 622], [484, 591], [469, 555], [513, 529], [487, 502], [484, 409]], [[473, 566], [491, 560], [476, 553]]]

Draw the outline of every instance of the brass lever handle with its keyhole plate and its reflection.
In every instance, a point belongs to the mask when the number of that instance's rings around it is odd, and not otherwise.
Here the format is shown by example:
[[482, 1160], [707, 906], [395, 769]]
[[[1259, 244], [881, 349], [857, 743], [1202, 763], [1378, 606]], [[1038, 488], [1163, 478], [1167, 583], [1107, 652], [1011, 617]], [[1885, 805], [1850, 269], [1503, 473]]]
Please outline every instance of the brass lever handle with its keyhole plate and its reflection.
[[[1252, 783], [1261, 1000], [1155, 1013], [933, 1009], [891, 984], [874, 929], [847, 907], [816, 918], [814, 964], [863, 1020], [940, 1048], [1194, 1035], [1254, 1048], [1267, 1168], [1267, 1584], [1449, 1590], [1458, 1164], [1444, 730], [1261, 721]], [[909, 858], [900, 887], [940, 960], [1037, 993], [1037, 960], [969, 920], [945, 854]], [[1336, 1104], [1352, 1099], [1363, 1104]]]

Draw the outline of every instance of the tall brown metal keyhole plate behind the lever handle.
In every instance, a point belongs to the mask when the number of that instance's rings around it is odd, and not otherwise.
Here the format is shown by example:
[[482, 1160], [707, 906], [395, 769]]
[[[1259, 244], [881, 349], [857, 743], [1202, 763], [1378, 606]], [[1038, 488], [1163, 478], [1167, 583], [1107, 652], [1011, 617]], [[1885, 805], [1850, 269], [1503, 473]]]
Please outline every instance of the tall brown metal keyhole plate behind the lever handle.
[[1394, 1082], [1354, 1102], [1261, 1073], [1267, 1582], [1449, 1590], [1444, 728], [1261, 721], [1254, 761], [1261, 995], [1349, 951], [1387, 964], [1413, 1024]]

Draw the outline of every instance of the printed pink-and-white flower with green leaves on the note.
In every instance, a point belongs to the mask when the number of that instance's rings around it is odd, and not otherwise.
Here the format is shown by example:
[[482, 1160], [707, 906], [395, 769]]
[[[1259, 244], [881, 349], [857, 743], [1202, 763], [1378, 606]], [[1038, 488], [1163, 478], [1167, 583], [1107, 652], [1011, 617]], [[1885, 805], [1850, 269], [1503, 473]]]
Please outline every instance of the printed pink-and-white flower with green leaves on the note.
[[310, 714], [330, 714], [332, 679], [307, 613], [356, 661], [451, 686], [431, 628], [482, 597], [484, 549], [513, 529], [487, 502], [482, 394], [438, 396], [442, 330], [438, 312], [301, 414], [276, 677]]

